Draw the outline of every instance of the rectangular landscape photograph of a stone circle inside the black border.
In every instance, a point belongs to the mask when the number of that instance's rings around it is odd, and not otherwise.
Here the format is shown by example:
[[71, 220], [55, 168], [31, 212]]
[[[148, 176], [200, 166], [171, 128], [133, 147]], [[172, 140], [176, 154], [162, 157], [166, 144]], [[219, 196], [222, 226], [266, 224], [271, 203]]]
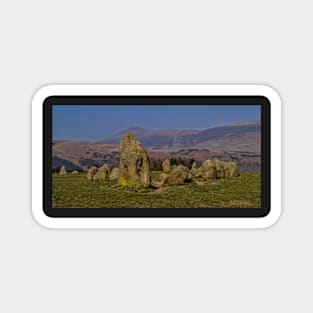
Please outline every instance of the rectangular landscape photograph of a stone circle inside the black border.
[[260, 105], [53, 105], [52, 208], [260, 208]]

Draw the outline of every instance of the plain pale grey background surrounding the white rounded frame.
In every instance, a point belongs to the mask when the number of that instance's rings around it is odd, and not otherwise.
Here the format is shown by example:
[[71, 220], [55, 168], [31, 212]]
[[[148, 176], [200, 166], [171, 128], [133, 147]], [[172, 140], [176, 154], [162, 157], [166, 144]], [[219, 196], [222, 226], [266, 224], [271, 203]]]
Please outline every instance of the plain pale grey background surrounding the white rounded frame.
[[[1, 1], [1, 312], [312, 312], [311, 1]], [[51, 83], [266, 83], [284, 211], [266, 230], [48, 230], [31, 99]], [[308, 163], [306, 163], [308, 162]]]

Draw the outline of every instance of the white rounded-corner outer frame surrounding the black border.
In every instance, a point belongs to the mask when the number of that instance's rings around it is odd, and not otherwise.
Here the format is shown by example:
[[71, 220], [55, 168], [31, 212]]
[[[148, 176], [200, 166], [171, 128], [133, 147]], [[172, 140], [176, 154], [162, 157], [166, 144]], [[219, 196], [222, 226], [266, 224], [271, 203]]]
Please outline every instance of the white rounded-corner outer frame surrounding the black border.
[[[264, 96], [271, 103], [271, 210], [265, 217], [245, 218], [62, 218], [43, 210], [43, 102], [50, 96]], [[281, 100], [265, 85], [49, 85], [32, 102], [32, 212], [48, 228], [266, 228], [282, 210]]]

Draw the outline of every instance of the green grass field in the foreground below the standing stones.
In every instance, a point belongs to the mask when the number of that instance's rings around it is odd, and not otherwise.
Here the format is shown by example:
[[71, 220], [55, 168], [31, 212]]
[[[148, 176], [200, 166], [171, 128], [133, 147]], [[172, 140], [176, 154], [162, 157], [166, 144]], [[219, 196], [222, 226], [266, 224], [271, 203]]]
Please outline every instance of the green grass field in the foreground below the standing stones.
[[[160, 172], [153, 172], [152, 178]], [[152, 188], [121, 187], [117, 182], [88, 181], [85, 173], [53, 174], [54, 208], [259, 208], [261, 176], [194, 181], [184, 185]]]

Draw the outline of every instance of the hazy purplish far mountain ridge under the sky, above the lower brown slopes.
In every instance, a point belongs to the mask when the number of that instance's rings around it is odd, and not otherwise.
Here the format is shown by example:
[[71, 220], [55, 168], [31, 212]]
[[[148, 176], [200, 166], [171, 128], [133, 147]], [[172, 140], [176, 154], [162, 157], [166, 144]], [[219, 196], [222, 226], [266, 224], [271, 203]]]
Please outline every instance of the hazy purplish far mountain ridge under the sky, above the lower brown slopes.
[[259, 121], [244, 121], [205, 130], [130, 127], [103, 142], [119, 144], [126, 131], [136, 136], [147, 149], [209, 148], [260, 153], [261, 146]]

